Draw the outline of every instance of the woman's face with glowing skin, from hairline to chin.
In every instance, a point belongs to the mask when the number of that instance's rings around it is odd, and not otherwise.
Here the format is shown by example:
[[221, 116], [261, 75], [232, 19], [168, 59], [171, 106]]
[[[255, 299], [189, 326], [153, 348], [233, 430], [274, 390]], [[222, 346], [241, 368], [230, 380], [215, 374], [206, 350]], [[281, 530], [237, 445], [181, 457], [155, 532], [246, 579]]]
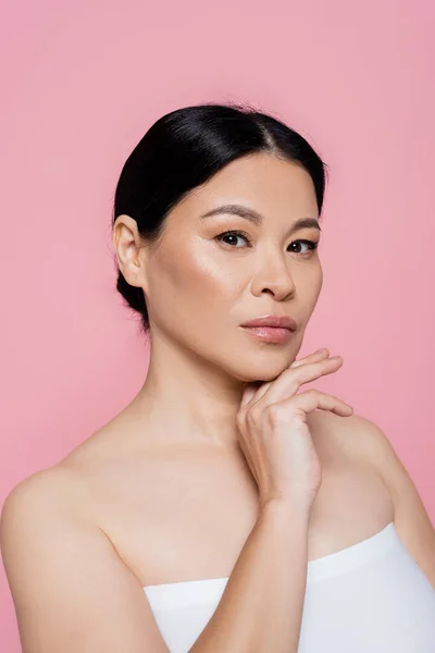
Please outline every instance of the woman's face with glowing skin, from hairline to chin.
[[[223, 205], [261, 215], [252, 222]], [[295, 227], [319, 210], [310, 175], [270, 155], [233, 161], [167, 215], [156, 249], [141, 250], [152, 342], [164, 336], [240, 381], [270, 381], [295, 360], [322, 287], [315, 226]], [[243, 232], [226, 234], [224, 232]], [[285, 343], [259, 340], [240, 324], [290, 316]]]

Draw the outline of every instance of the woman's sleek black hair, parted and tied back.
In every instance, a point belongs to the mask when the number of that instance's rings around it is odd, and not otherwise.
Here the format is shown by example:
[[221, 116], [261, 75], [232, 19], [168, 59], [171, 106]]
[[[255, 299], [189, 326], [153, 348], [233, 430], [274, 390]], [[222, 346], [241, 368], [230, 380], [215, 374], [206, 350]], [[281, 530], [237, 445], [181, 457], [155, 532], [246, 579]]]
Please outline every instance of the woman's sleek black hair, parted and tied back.
[[[139, 234], [154, 243], [169, 211], [189, 192], [231, 161], [262, 151], [298, 162], [307, 170], [320, 214], [327, 165], [300, 134], [247, 103], [206, 103], [166, 113], [137, 144], [116, 185], [112, 226], [117, 215], [130, 215]], [[126, 306], [141, 316], [141, 330], [147, 333], [144, 291], [117, 272], [116, 289]]]

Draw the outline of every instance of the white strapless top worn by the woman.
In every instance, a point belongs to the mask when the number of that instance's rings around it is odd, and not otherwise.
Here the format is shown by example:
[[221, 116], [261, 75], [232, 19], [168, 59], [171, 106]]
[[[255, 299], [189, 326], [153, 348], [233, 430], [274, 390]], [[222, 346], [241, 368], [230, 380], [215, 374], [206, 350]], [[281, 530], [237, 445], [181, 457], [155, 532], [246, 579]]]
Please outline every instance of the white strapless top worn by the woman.
[[[144, 588], [171, 653], [190, 649], [227, 580]], [[368, 540], [308, 562], [298, 653], [435, 653], [435, 589], [393, 521]]]

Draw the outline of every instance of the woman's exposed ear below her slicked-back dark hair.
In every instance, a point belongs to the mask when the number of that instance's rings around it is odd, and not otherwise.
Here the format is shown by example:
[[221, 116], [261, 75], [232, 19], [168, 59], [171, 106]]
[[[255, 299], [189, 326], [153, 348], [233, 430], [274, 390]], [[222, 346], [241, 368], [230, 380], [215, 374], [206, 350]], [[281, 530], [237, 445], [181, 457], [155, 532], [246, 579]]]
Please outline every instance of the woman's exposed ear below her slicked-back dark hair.
[[133, 286], [147, 292], [146, 247], [137, 230], [136, 220], [130, 215], [117, 215], [113, 225], [113, 249], [117, 266], [125, 280]]

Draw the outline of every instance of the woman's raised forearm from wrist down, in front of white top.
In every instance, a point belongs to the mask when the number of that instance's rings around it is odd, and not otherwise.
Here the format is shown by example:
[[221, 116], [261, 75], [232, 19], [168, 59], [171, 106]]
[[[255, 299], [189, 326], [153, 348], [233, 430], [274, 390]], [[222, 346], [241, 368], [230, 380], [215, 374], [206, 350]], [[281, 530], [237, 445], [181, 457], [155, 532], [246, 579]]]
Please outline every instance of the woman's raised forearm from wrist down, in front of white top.
[[308, 566], [309, 509], [264, 507], [191, 653], [297, 653]]

